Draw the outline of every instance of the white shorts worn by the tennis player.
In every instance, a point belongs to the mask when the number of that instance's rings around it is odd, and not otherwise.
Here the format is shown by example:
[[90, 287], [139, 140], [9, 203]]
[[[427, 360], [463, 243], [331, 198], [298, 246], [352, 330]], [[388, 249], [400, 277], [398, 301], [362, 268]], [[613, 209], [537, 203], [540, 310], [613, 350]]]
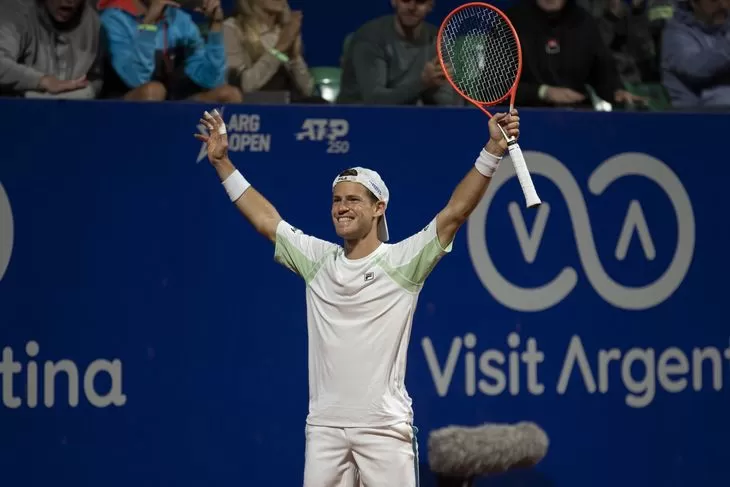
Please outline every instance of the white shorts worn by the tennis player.
[[307, 425], [304, 487], [418, 487], [417, 432]]

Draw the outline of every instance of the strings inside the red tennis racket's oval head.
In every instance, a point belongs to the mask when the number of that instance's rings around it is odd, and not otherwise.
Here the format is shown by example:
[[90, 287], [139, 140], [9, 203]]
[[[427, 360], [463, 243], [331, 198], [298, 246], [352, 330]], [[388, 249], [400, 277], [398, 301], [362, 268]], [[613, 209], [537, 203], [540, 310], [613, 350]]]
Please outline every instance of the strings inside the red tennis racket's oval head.
[[507, 21], [492, 9], [456, 12], [441, 34], [443, 68], [467, 97], [494, 103], [512, 88], [519, 71], [519, 47]]

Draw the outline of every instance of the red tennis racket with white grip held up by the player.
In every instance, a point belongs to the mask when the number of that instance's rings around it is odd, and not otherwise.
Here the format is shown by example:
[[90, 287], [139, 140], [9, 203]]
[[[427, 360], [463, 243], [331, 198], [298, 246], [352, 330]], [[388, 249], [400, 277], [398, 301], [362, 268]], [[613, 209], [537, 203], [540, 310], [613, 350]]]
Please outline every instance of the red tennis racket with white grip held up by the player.
[[[501, 10], [481, 2], [452, 10], [439, 28], [437, 49], [446, 79], [459, 95], [490, 118], [487, 107], [508, 97], [512, 111], [522, 74], [522, 48], [515, 28]], [[527, 207], [540, 206], [517, 139], [498, 127], [507, 141]]]

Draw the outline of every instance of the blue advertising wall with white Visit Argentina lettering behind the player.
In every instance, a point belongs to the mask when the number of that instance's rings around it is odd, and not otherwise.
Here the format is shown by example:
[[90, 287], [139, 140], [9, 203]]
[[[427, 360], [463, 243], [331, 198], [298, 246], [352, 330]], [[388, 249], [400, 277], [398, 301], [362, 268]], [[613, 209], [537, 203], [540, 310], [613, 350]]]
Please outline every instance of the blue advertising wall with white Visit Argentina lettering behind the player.
[[[209, 108], [0, 103], [1, 485], [301, 485], [303, 283], [193, 138]], [[521, 115], [545, 204], [506, 159], [415, 315], [422, 484], [434, 428], [528, 420], [546, 458], [480, 485], [725, 485], [728, 117]], [[400, 240], [487, 138], [474, 109], [224, 118], [247, 178], [326, 239], [342, 169], [381, 173]]]

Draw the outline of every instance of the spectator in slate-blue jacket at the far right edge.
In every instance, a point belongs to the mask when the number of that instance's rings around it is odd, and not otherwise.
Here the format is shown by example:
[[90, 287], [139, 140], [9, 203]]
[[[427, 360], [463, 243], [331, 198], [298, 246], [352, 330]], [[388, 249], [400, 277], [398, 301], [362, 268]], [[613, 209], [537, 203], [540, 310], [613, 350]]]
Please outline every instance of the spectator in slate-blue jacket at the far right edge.
[[730, 106], [728, 0], [677, 3], [664, 28], [662, 82], [673, 106]]

